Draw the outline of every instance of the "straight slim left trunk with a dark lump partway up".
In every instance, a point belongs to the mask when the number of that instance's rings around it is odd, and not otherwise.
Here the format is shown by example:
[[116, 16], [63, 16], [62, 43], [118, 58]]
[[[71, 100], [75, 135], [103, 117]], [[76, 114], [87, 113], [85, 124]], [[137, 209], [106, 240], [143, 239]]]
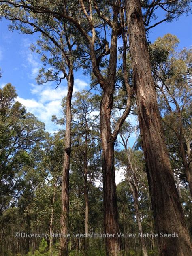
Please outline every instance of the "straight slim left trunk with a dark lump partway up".
[[71, 98], [73, 93], [73, 70], [68, 75], [68, 92], [66, 102], [66, 132], [65, 132], [65, 152], [62, 177], [62, 214], [61, 214], [61, 237], [59, 256], [68, 256], [68, 210], [69, 210], [69, 169], [71, 153]]

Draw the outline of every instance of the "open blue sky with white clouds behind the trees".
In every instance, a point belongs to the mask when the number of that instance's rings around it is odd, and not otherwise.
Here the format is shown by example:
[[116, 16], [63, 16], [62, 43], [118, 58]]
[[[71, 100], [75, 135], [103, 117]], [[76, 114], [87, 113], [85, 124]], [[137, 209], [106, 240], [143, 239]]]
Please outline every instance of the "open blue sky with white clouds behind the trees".
[[[2, 79], [0, 87], [11, 83], [16, 87], [17, 100], [25, 105], [28, 111], [34, 113], [41, 121], [45, 122], [46, 129], [53, 133], [58, 127], [51, 122], [53, 114], [61, 116], [60, 102], [66, 96], [66, 81], [58, 87], [56, 92], [55, 83], [37, 85], [35, 77], [38, 68], [41, 67], [40, 56], [31, 53], [29, 46], [35, 43], [36, 35], [23, 35], [18, 32], [10, 32], [8, 25], [10, 21], [0, 21], [0, 67]], [[192, 19], [181, 16], [179, 21], [162, 23], [151, 29], [149, 41], [154, 42], [159, 36], [167, 33], [176, 35], [179, 40], [179, 48], [190, 47], [192, 44]], [[89, 77], [85, 77], [80, 71], [75, 73], [75, 91], [89, 88]]]

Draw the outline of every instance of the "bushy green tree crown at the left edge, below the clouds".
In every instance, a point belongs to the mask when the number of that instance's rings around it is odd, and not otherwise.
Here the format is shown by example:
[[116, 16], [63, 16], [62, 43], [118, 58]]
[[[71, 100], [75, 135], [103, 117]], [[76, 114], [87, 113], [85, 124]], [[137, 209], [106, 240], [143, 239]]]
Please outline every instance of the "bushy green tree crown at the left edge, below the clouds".
[[[30, 152], [43, 139], [45, 129], [42, 122], [16, 101], [16, 97], [15, 87], [10, 83], [0, 89], [1, 211], [12, 201], [17, 185], [14, 179], [22, 166], [29, 164]], [[8, 195], [9, 199], [6, 198]]]

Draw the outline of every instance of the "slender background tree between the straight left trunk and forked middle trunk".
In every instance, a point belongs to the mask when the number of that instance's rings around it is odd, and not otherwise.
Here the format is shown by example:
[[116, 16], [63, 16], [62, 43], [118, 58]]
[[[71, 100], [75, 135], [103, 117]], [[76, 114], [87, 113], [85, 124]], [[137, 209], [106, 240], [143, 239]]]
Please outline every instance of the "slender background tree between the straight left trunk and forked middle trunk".
[[[98, 95], [77, 92], [73, 101], [73, 164], [78, 166], [84, 180], [85, 234], [89, 233], [89, 190], [100, 179], [101, 152], [98, 123]], [[85, 251], [88, 239], [85, 237]]]

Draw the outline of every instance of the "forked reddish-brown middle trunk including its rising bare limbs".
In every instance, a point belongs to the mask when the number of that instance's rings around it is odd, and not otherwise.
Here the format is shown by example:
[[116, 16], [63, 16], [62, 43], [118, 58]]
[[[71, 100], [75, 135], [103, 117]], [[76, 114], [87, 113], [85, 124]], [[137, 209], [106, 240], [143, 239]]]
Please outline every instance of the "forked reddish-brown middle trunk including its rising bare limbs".
[[[114, 141], [117, 137], [119, 127], [111, 131], [111, 110], [113, 107], [113, 93], [115, 89], [115, 77], [117, 66], [117, 34], [118, 34], [118, 9], [113, 9], [113, 27], [111, 35], [111, 48], [107, 78], [104, 79], [97, 67], [94, 45], [90, 43], [90, 55], [92, 68], [98, 83], [103, 90], [100, 103], [100, 133], [102, 140], [102, 171], [103, 171], [103, 194], [104, 194], [104, 233], [115, 234], [113, 238], [105, 238], [106, 255], [117, 256], [120, 252], [120, 238], [117, 210], [117, 195], [114, 168]], [[94, 33], [93, 33], [94, 38]], [[93, 41], [94, 42], [94, 41]], [[128, 113], [126, 112], [128, 115]], [[124, 115], [126, 119], [127, 115]], [[122, 120], [120, 120], [122, 122]], [[120, 123], [121, 123], [120, 122]], [[119, 124], [119, 122], [118, 122]]]

